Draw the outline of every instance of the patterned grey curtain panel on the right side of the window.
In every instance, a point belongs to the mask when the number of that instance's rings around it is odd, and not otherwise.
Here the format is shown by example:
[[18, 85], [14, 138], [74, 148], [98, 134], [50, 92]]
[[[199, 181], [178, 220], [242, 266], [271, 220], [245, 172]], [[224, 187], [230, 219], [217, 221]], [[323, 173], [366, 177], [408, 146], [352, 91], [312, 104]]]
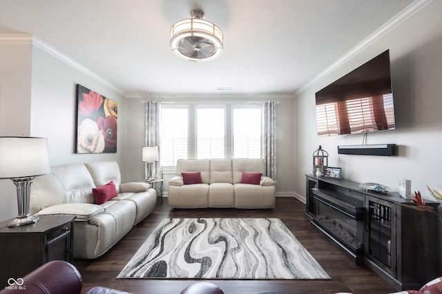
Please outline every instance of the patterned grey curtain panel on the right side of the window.
[[262, 101], [261, 157], [267, 165], [267, 176], [276, 177], [276, 101]]

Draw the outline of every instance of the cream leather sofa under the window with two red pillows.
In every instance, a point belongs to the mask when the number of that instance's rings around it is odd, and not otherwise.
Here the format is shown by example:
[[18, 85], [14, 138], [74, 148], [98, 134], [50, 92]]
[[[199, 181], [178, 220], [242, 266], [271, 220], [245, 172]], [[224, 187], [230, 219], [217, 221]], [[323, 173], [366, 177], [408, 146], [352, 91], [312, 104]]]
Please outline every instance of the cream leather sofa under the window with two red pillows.
[[[175, 208], [275, 207], [275, 182], [265, 176], [262, 158], [180, 159], [177, 176], [169, 180], [169, 205]], [[184, 185], [183, 173], [200, 173], [201, 183]], [[262, 174], [258, 185], [242, 183], [243, 172]]]

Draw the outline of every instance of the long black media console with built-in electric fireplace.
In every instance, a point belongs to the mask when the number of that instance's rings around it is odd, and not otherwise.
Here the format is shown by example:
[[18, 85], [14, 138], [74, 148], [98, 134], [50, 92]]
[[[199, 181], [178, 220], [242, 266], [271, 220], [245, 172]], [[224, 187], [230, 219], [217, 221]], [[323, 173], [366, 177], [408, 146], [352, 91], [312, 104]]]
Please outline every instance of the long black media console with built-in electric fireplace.
[[[358, 182], [306, 176], [306, 216], [357, 264], [398, 290], [419, 289], [442, 275], [442, 223], [410, 208], [397, 192], [376, 193]], [[425, 201], [437, 211], [439, 202]]]

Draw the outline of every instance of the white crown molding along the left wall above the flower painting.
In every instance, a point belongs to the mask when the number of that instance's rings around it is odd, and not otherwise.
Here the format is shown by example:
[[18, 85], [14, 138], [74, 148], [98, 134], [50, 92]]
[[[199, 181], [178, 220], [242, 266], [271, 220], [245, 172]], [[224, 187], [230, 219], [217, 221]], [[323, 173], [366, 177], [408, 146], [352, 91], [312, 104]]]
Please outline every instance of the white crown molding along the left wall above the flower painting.
[[55, 58], [63, 61], [64, 63], [70, 65], [71, 67], [75, 68], [75, 70], [78, 70], [79, 72], [86, 74], [86, 76], [89, 76], [90, 78], [93, 78], [95, 81], [102, 83], [106, 87], [110, 88], [111, 90], [114, 90], [118, 94], [121, 94], [122, 96], [127, 96], [126, 93], [123, 92], [123, 90], [119, 89], [116, 85], [113, 83], [107, 81], [102, 76], [99, 76], [92, 70], [89, 70], [84, 65], [81, 65], [74, 59], [71, 59], [69, 56], [64, 54], [63, 52], [55, 49], [45, 41], [39, 39], [37, 36], [33, 36], [32, 34], [0, 34], [0, 43], [2, 44], [32, 44], [35, 45], [35, 47], [43, 50], [44, 52], [54, 56]]

